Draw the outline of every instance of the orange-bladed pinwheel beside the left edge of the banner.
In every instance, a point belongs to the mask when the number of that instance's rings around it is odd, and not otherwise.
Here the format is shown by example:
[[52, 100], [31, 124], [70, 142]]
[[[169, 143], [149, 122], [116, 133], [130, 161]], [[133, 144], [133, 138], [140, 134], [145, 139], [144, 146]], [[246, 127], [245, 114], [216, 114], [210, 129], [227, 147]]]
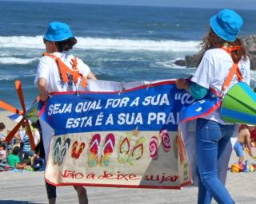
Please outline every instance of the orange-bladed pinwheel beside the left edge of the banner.
[[[30, 119], [30, 117], [35, 116], [35, 115], [37, 115], [37, 118], [38, 118], [37, 106], [36, 105], [34, 105], [34, 107], [32, 106], [32, 108], [30, 108], [29, 111], [26, 112], [26, 106], [24, 103], [24, 96], [23, 96], [23, 92], [22, 92], [22, 83], [20, 80], [15, 81], [15, 88], [17, 89], [17, 92], [18, 92], [18, 98], [21, 103], [22, 110], [18, 110], [18, 108], [15, 108], [14, 106], [7, 104], [6, 102], [0, 100], [0, 108], [3, 108], [10, 112], [14, 112], [15, 114], [22, 116], [22, 119], [6, 136], [6, 142], [9, 143], [10, 139], [12, 139], [14, 137], [14, 135], [18, 132], [18, 130], [22, 126], [22, 124], [25, 123], [27, 135], [29, 135], [29, 138], [30, 138], [31, 149], [34, 149], [34, 147], [35, 147], [34, 137], [33, 137], [32, 131], [31, 131], [29, 119]], [[34, 118], [34, 120], [35, 120], [35, 118]]]

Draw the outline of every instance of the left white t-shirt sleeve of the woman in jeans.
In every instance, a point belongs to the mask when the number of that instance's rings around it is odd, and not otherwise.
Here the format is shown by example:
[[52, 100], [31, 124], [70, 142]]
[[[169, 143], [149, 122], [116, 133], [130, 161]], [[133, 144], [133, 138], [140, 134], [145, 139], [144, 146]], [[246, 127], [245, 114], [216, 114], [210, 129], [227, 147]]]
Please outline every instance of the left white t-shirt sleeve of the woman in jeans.
[[198, 65], [191, 81], [204, 87], [210, 88], [210, 84], [214, 79], [214, 64], [210, 60], [210, 55], [206, 52], [202, 57], [202, 61]]

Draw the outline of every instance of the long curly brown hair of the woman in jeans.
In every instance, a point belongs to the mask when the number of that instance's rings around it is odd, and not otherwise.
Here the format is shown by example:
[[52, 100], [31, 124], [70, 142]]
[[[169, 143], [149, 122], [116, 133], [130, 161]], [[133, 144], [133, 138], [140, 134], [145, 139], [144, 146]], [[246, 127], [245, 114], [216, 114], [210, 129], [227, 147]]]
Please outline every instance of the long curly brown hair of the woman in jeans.
[[240, 46], [241, 49], [231, 52], [231, 57], [234, 63], [238, 63], [238, 61], [241, 59], [246, 61], [246, 57], [248, 56], [246, 48], [239, 38], [237, 38], [235, 41], [225, 41], [221, 37], [218, 37], [218, 35], [214, 33], [213, 29], [210, 29], [209, 33], [202, 40], [201, 45], [202, 53], [205, 53], [208, 49], [221, 48], [223, 45]]

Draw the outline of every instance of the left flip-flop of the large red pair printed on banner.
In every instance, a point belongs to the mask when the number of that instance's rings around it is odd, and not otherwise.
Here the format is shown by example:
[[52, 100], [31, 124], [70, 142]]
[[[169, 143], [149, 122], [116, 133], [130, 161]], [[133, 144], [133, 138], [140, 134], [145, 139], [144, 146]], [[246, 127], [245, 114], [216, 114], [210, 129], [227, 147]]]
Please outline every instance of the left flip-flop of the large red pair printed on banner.
[[96, 167], [98, 165], [98, 149], [99, 143], [101, 142], [101, 135], [95, 134], [90, 140], [90, 149], [89, 149], [89, 166]]

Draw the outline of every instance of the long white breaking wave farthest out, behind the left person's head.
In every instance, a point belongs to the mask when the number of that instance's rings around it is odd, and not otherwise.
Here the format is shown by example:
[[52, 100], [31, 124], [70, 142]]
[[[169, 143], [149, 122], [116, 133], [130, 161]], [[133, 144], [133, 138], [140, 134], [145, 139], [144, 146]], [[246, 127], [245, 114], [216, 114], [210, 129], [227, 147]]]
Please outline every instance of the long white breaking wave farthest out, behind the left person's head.
[[[114, 39], [77, 37], [78, 49], [117, 49], [117, 50], [150, 50], [173, 52], [197, 52], [199, 41], [145, 40], [145, 39]], [[44, 49], [42, 36], [0, 36], [0, 48], [33, 48]]]

